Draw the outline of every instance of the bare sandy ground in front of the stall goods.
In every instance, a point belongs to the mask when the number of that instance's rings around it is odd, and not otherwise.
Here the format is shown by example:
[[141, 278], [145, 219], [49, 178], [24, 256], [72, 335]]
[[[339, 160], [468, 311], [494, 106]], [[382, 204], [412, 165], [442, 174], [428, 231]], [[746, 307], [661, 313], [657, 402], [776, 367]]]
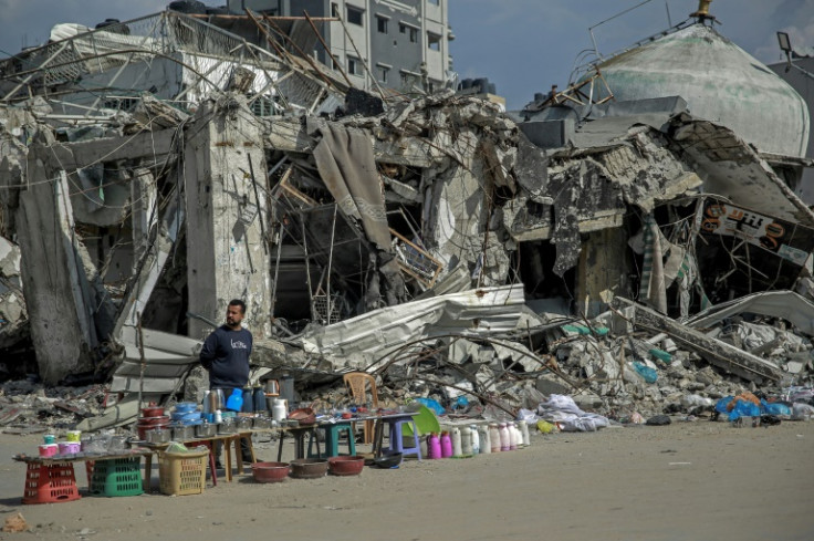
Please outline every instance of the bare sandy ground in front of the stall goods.
[[[30, 527], [2, 539], [814, 539], [814, 422], [538, 434], [518, 451], [409, 460], [358, 477], [260, 485], [249, 475], [199, 496], [22, 506], [24, 466], [11, 457], [39, 441], [0, 435], [0, 522], [19, 511]], [[258, 455], [275, 458], [271, 445]]]

